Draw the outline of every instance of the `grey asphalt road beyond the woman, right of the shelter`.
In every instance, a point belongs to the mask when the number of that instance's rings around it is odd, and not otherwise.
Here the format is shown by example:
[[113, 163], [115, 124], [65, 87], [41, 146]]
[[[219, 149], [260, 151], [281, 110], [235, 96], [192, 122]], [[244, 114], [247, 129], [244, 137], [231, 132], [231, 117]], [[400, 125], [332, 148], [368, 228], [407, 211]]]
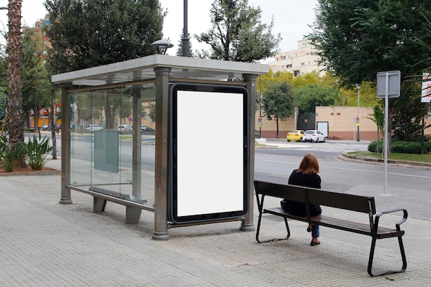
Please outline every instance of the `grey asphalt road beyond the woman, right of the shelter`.
[[356, 144], [325, 142], [308, 144], [311, 147], [305, 149], [299, 145], [288, 149], [256, 149], [255, 179], [286, 183], [304, 154], [312, 152], [319, 160], [322, 189], [374, 196], [380, 211], [403, 207], [408, 209], [409, 216], [428, 220], [431, 208], [430, 171], [388, 167], [388, 186], [384, 191], [383, 165], [336, 159], [350, 145]]

